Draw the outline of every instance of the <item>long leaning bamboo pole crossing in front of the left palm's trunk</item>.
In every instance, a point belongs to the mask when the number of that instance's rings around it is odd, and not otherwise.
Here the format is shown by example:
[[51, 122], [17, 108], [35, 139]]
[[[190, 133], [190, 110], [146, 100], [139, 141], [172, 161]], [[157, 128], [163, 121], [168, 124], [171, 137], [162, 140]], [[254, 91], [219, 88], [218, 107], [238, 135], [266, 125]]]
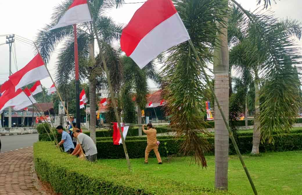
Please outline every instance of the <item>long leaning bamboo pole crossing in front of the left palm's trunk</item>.
[[[90, 8], [90, 3], [89, 3], [88, 0], [87, 0], [87, 4], [88, 4], [90, 16], [92, 17], [92, 12], [91, 12], [91, 8]], [[111, 85], [111, 81], [110, 81], [110, 76], [109, 76], [108, 69], [107, 69], [107, 65], [106, 65], [106, 61], [105, 61], [105, 58], [104, 58], [104, 54], [103, 54], [101, 42], [100, 42], [100, 40], [99, 40], [99, 38], [98, 38], [98, 31], [97, 31], [97, 28], [95, 27], [94, 21], [92, 21], [92, 24], [93, 24], [93, 28], [94, 28], [94, 34], [95, 34], [95, 36], [96, 36], [96, 40], [97, 40], [97, 42], [98, 42], [98, 47], [99, 47], [99, 50], [100, 50], [100, 54], [99, 54], [99, 55], [101, 55], [101, 59], [102, 59], [103, 65], [104, 65], [104, 69], [105, 69], [105, 73], [106, 73], [106, 77], [107, 77], [107, 81], [108, 81], [108, 85], [109, 85], [111, 100], [112, 100], [112, 104], [113, 104], [115, 116], [116, 116], [116, 119], [117, 119], [118, 128], [119, 128], [119, 130], [120, 130], [120, 137], [121, 137], [122, 142], [123, 142], [123, 148], [124, 148], [124, 152], [125, 152], [125, 156], [126, 156], [128, 168], [131, 169], [131, 164], [130, 164], [130, 160], [129, 160], [129, 156], [128, 156], [128, 152], [127, 152], [127, 147], [126, 147], [126, 143], [125, 143], [125, 138], [124, 138], [124, 136], [123, 136], [123, 132], [122, 132], [122, 129], [121, 129], [120, 118], [119, 118], [119, 115], [118, 115], [118, 112], [117, 112], [117, 107], [116, 107], [116, 102], [115, 102], [115, 98], [114, 98], [114, 93], [113, 93], [113, 90], [112, 90], [112, 85]]]

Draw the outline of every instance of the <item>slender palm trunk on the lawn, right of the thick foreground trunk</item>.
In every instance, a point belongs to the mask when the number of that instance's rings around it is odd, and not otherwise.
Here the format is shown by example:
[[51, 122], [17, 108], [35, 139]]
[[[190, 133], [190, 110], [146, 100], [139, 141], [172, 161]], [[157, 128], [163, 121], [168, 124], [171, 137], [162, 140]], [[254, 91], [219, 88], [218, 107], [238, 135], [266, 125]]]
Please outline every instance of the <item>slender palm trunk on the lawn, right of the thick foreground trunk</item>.
[[253, 148], [251, 154], [259, 154], [260, 145], [260, 100], [259, 100], [259, 78], [258, 69], [255, 70], [255, 114], [254, 114], [254, 131], [253, 131]]

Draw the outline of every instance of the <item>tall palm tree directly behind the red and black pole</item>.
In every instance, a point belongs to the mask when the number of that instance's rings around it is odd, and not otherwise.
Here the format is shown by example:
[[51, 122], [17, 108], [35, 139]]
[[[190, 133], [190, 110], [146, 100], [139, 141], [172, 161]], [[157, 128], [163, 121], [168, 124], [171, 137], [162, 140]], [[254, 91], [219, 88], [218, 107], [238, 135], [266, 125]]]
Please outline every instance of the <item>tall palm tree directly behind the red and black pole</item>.
[[[122, 0], [90, 0], [92, 18], [96, 23], [98, 36], [108, 45], [114, 40], [119, 40], [123, 25], [115, 24], [113, 19], [102, 15], [106, 10], [119, 6]], [[65, 11], [72, 4], [72, 0], [65, 0], [54, 8], [51, 24], [46, 25], [40, 30], [36, 37], [37, 47], [42, 58], [48, 63], [51, 55], [59, 43], [64, 43], [58, 61], [56, 63], [56, 83], [59, 88], [67, 89], [66, 86], [70, 79], [74, 77], [74, 38], [72, 26], [61, 27], [52, 31], [49, 29], [57, 23]], [[85, 22], [77, 25], [78, 45], [79, 45], [79, 69], [80, 79], [89, 81], [90, 97], [90, 135], [95, 139], [95, 115], [96, 115], [96, 84], [99, 76], [103, 76], [102, 71], [95, 62], [94, 41], [95, 36], [91, 22]], [[112, 54], [107, 52], [106, 54]], [[110, 65], [110, 64], [109, 64]]]

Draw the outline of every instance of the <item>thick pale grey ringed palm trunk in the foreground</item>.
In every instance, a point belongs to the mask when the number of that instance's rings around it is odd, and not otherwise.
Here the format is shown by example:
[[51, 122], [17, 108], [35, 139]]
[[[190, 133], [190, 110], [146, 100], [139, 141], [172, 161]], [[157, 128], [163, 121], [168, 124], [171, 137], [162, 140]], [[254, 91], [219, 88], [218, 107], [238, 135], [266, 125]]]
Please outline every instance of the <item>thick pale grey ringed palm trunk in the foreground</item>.
[[[227, 9], [227, 0], [226, 7]], [[221, 33], [217, 32], [218, 46], [214, 50], [214, 75], [215, 94], [226, 117], [229, 121], [229, 51], [227, 45], [227, 21], [226, 24], [217, 23]], [[215, 103], [215, 110], [218, 110]], [[228, 189], [228, 155], [229, 132], [223, 122], [220, 112], [215, 112], [215, 188], [217, 190]]]

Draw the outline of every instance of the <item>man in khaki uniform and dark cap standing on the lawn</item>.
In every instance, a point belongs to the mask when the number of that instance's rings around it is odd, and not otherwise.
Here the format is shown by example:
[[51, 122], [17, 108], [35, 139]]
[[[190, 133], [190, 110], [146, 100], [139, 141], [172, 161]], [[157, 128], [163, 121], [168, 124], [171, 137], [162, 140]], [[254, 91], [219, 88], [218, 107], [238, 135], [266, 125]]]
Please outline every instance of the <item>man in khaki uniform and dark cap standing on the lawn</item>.
[[159, 152], [158, 152], [158, 143], [156, 139], [156, 129], [152, 128], [152, 124], [148, 123], [147, 130], [145, 130], [145, 125], [143, 125], [143, 131], [147, 134], [147, 147], [145, 150], [145, 163], [148, 163], [148, 157], [149, 153], [153, 150], [158, 164], [162, 164], [162, 159], [160, 158]]

